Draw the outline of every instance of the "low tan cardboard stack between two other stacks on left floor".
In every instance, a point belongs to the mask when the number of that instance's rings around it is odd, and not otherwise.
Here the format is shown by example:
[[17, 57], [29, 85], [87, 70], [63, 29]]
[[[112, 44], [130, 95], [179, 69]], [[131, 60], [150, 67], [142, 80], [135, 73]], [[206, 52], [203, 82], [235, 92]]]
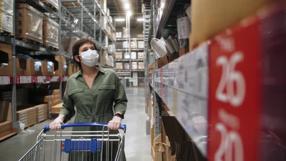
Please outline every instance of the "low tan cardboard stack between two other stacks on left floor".
[[37, 124], [37, 109], [30, 107], [17, 111], [17, 121], [25, 124], [25, 128]]

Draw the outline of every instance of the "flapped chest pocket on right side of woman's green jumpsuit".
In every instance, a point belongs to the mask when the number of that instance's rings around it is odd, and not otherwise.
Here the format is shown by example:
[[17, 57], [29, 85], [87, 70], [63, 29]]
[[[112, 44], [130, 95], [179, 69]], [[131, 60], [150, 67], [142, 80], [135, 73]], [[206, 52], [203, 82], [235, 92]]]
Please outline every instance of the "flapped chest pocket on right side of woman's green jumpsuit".
[[103, 84], [98, 86], [97, 102], [110, 102], [113, 100], [115, 85]]

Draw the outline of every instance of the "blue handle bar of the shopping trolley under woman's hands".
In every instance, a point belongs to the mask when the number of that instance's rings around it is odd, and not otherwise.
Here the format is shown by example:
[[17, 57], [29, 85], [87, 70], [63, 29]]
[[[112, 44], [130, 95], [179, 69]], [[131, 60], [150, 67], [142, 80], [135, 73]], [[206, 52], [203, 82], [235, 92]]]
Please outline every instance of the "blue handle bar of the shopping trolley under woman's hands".
[[[97, 122], [77, 122], [77, 123], [67, 123], [67, 124], [63, 124], [61, 127], [62, 128], [69, 128], [69, 127], [104, 127], [104, 126], [108, 126], [107, 123], [97, 123]], [[49, 126], [45, 126], [44, 128], [44, 132], [49, 131]], [[126, 129], [126, 125], [121, 125], [119, 129], [125, 130]]]

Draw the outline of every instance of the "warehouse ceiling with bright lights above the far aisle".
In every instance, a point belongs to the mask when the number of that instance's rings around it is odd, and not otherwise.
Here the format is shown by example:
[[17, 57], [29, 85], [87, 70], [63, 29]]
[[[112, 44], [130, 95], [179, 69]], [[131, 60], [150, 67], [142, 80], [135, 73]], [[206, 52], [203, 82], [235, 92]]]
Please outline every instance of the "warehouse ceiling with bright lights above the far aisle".
[[[136, 27], [138, 23], [137, 18], [142, 18], [142, 0], [107, 0], [107, 7], [110, 10], [110, 15], [116, 18], [126, 18], [127, 9], [125, 4], [129, 3], [132, 16], [130, 17], [130, 27]], [[116, 22], [116, 27], [125, 27], [126, 22]]]

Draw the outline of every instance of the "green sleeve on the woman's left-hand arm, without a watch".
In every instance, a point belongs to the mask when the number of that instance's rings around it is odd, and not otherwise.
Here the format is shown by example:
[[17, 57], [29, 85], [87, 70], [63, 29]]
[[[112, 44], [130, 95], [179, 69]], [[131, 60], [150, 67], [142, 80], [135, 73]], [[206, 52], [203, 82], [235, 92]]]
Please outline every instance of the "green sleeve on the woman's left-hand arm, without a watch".
[[76, 113], [75, 105], [72, 97], [68, 96], [68, 89], [69, 89], [69, 81], [66, 83], [66, 88], [64, 91], [63, 97], [63, 107], [60, 111], [60, 114], [64, 114], [64, 123], [70, 120]]

